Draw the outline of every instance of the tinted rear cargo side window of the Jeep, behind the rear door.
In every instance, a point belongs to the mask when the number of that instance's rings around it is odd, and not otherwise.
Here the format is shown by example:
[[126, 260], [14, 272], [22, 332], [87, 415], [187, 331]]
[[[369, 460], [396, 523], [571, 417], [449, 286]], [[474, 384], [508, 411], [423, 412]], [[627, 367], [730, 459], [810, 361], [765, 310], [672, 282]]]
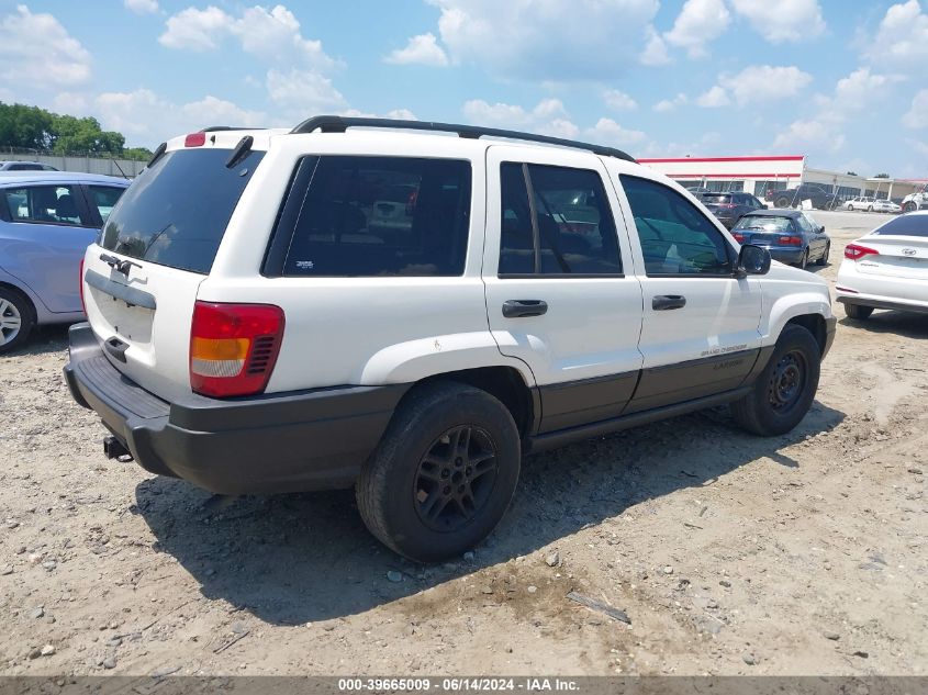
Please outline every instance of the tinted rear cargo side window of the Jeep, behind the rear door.
[[457, 159], [320, 157], [283, 274], [460, 276], [470, 181]]

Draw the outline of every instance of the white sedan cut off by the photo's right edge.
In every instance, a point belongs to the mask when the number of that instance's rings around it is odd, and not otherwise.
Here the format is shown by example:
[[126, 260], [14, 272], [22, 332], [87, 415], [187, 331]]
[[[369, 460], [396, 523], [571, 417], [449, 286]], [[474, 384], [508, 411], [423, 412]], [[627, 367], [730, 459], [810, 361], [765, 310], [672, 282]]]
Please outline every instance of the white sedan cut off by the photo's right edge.
[[848, 244], [837, 300], [850, 318], [874, 309], [928, 314], [928, 210], [894, 217]]

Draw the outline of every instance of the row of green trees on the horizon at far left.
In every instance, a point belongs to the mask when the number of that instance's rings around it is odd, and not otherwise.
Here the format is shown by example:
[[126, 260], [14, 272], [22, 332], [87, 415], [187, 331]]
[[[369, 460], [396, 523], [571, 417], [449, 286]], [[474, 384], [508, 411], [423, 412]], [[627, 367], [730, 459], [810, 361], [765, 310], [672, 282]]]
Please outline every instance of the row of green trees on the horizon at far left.
[[152, 156], [145, 147], [126, 147], [122, 133], [104, 131], [97, 119], [0, 101], [0, 149], [10, 147], [34, 149], [42, 155], [88, 153], [139, 160]]

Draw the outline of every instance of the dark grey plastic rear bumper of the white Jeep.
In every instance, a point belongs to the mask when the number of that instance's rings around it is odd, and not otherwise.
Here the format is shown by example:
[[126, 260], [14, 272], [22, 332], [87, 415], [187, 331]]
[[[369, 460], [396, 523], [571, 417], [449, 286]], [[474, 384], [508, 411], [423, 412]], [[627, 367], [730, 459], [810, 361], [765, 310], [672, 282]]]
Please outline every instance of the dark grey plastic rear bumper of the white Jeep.
[[89, 324], [70, 328], [65, 380], [142, 468], [221, 494], [349, 487], [405, 384], [168, 402], [116, 370]]

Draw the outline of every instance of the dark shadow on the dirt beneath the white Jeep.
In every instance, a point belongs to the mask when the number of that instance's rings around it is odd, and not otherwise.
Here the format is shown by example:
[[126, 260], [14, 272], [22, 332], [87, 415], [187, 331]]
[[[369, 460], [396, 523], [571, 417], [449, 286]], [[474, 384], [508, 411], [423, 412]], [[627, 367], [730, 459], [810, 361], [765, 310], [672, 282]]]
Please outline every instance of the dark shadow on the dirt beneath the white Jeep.
[[[183, 481], [154, 478], [137, 485], [133, 513], [203, 595], [269, 624], [298, 625], [358, 614], [532, 553], [762, 457], [797, 468], [782, 449], [843, 418], [816, 402], [789, 435], [760, 438], [716, 408], [529, 456], [508, 513], [473, 559], [436, 565], [406, 561], [377, 542], [350, 491], [242, 497], [224, 506]], [[388, 581], [391, 570], [403, 581]]]

